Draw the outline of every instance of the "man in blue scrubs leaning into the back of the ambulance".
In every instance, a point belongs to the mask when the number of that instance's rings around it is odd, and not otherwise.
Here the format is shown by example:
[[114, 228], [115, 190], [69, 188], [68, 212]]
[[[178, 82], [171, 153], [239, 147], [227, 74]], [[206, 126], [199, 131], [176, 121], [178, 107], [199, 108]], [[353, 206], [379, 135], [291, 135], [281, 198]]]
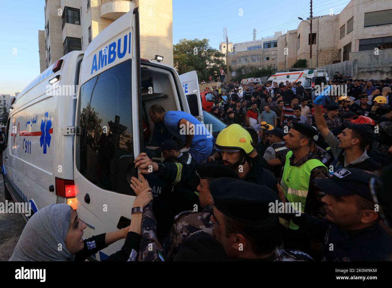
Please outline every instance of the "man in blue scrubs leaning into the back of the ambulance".
[[197, 163], [202, 163], [211, 155], [212, 134], [194, 116], [183, 111], [168, 111], [161, 105], [149, 109], [151, 121], [164, 123], [170, 133], [185, 143], [180, 152], [188, 152]]

